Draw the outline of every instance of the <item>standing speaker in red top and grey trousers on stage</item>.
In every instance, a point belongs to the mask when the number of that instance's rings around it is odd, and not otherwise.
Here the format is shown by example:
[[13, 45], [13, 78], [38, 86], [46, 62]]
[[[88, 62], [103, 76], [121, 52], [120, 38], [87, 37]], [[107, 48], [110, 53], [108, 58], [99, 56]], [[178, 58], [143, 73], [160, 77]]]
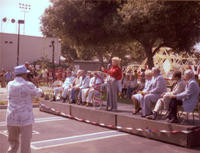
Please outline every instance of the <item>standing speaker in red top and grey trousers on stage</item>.
[[119, 81], [122, 79], [122, 70], [119, 67], [121, 59], [119, 57], [112, 58], [112, 66], [109, 70], [104, 67], [101, 70], [110, 75], [112, 80], [107, 84], [107, 110], [117, 110], [117, 94], [119, 91]]

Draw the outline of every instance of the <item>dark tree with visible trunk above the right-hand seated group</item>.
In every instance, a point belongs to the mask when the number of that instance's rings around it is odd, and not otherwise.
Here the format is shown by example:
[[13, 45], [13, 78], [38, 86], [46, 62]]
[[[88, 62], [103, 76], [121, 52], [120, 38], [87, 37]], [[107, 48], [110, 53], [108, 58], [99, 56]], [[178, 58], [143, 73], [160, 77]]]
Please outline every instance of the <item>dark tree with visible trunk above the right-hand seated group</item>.
[[200, 34], [199, 2], [127, 0], [120, 11], [129, 37], [144, 47], [147, 64], [160, 47], [190, 51]]

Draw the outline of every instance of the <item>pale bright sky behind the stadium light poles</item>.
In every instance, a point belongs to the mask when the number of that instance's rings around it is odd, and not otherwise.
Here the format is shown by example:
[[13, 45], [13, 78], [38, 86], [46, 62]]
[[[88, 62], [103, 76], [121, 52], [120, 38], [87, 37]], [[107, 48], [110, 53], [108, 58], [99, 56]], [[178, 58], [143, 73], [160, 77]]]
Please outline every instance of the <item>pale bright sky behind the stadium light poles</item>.
[[[20, 8], [22, 4], [30, 5], [30, 9]], [[24, 20], [25, 14], [25, 24], [20, 24], [20, 34], [42, 36], [40, 18], [50, 4], [49, 0], [0, 0], [0, 32], [17, 34], [17, 20]], [[3, 22], [3, 18], [7, 21]], [[12, 19], [15, 19], [15, 23], [11, 22]]]

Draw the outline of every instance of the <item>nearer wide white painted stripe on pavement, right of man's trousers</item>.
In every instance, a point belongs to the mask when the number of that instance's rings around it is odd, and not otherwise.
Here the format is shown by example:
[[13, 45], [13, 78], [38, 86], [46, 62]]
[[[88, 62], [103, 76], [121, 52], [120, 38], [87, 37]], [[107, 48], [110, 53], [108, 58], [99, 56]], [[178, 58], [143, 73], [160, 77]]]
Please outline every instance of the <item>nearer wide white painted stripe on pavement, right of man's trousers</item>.
[[94, 141], [94, 140], [100, 140], [100, 139], [106, 139], [106, 138], [124, 136], [124, 135], [128, 135], [128, 134], [119, 132], [119, 131], [104, 131], [104, 132], [90, 133], [90, 134], [84, 134], [84, 135], [78, 135], [78, 136], [35, 141], [31, 143], [31, 148], [35, 150], [39, 150], [39, 149], [44, 149], [44, 148], [51, 148], [51, 147], [63, 146], [63, 145], [74, 144], [74, 143], [88, 142], [88, 141]]

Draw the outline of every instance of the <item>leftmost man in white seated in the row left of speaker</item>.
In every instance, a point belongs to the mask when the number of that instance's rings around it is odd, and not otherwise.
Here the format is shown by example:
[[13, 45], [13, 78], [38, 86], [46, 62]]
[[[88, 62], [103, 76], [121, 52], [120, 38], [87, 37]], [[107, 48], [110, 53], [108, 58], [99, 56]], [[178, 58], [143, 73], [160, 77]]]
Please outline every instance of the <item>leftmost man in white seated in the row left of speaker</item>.
[[62, 87], [63, 87], [63, 92], [62, 92], [63, 102], [66, 101], [66, 98], [67, 98], [67, 95], [68, 95], [68, 89], [70, 88], [70, 86], [72, 85], [72, 83], [75, 79], [75, 76], [72, 76], [71, 71], [67, 71], [66, 75], [67, 75], [67, 77], [65, 79], [64, 84], [62, 85]]

